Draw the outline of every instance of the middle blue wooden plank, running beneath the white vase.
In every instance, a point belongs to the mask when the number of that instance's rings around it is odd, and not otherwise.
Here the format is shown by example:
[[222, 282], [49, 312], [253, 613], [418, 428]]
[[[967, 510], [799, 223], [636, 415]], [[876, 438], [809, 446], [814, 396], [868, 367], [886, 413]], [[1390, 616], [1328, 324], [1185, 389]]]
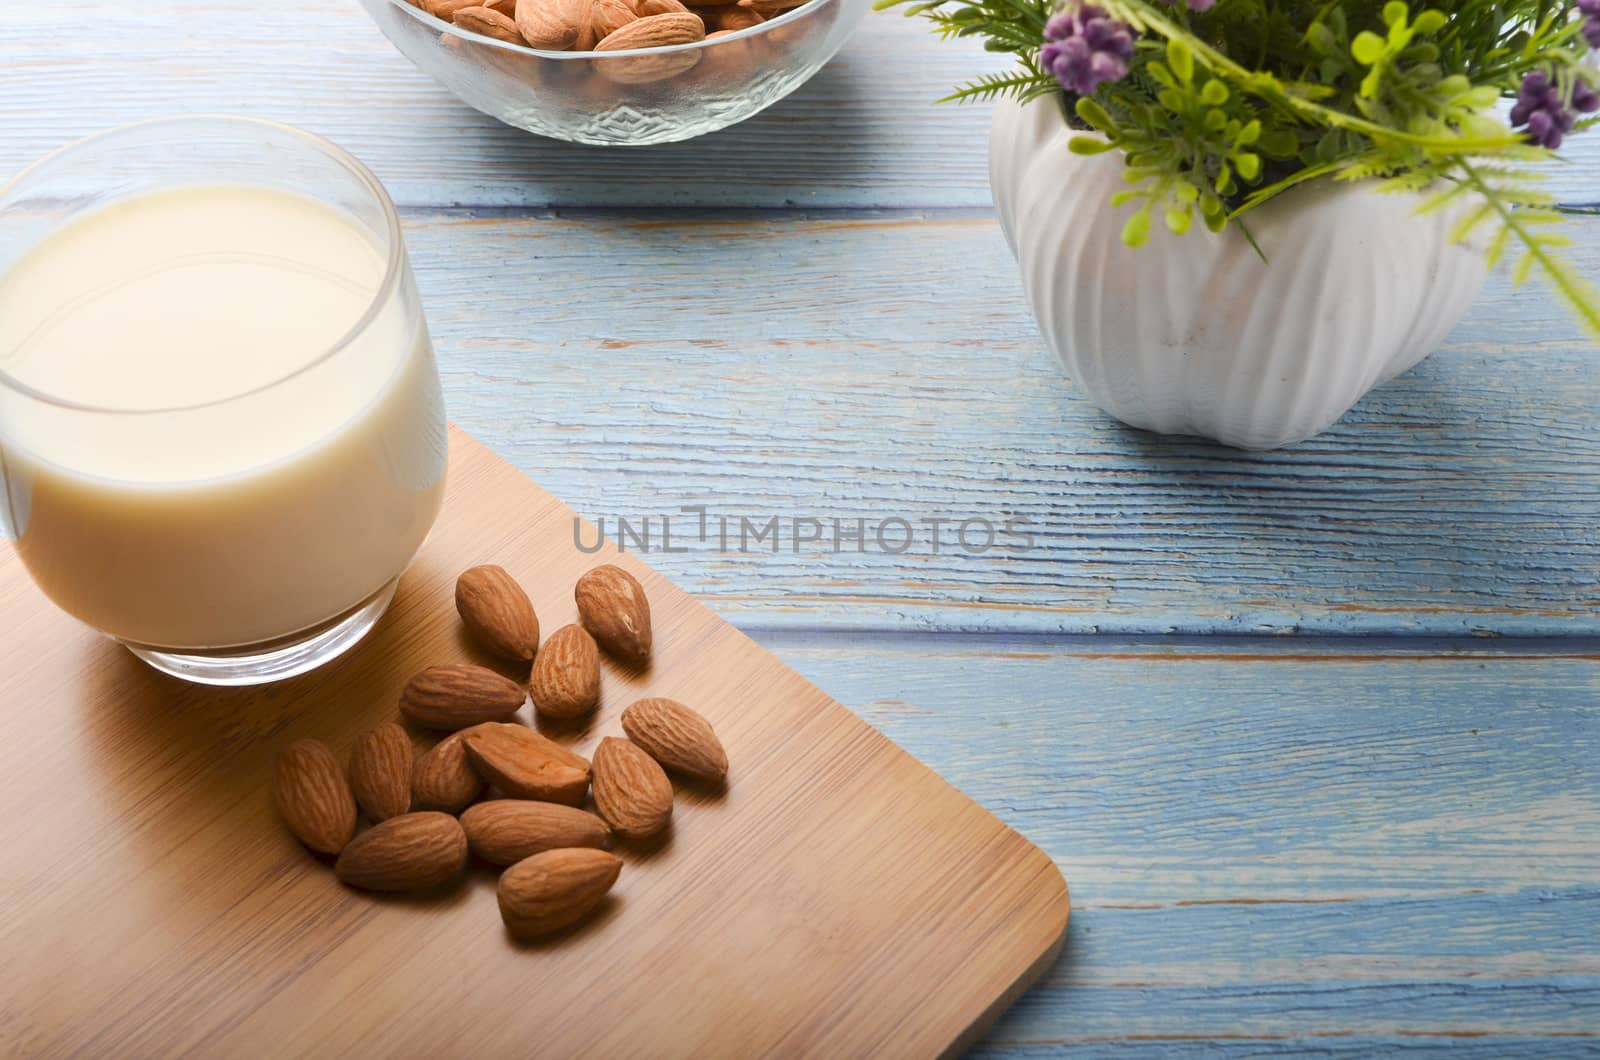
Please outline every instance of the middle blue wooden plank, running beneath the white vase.
[[[1573, 234], [1600, 272], [1600, 218]], [[613, 533], [653, 517], [651, 559], [746, 628], [1600, 631], [1600, 376], [1538, 287], [1493, 280], [1344, 423], [1251, 455], [1091, 407], [984, 218], [424, 213], [408, 239], [451, 413]], [[739, 552], [774, 516], [778, 554]], [[795, 517], [824, 540], [797, 551]], [[915, 543], [835, 554], [834, 519]], [[1032, 548], [968, 554], [965, 519]]]

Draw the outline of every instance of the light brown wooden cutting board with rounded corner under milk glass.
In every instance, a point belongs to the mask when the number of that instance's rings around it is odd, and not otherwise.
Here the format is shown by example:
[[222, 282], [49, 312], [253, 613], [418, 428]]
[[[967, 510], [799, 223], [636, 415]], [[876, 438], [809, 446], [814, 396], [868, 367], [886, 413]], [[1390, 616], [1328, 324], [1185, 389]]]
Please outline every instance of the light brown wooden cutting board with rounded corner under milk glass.
[[344, 756], [414, 671], [482, 661], [464, 567], [509, 568], [549, 634], [602, 560], [459, 431], [450, 476], [373, 636], [264, 689], [155, 674], [0, 546], [0, 1055], [933, 1055], [1051, 962], [1067, 889], [1043, 852], [632, 554], [656, 661], [606, 663], [597, 717], [562, 738], [587, 753], [670, 695], [717, 727], [728, 789], [680, 789], [669, 842], [624, 852], [600, 913], [541, 945], [504, 934], [486, 866], [427, 897], [342, 889], [274, 815], [275, 754]]

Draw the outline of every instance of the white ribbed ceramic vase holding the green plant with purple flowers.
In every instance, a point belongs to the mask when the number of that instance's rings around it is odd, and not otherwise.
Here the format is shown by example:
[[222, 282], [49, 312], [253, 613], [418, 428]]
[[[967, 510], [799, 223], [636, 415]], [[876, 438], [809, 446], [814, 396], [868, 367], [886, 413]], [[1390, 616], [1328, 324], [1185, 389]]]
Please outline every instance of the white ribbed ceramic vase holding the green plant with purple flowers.
[[1277, 448], [1325, 431], [1426, 357], [1486, 266], [1451, 243], [1458, 213], [1322, 181], [1250, 215], [1267, 255], [1198, 218], [1122, 245], [1122, 154], [1075, 155], [1056, 98], [995, 109], [989, 183], [1045, 341], [1106, 412], [1136, 428]]

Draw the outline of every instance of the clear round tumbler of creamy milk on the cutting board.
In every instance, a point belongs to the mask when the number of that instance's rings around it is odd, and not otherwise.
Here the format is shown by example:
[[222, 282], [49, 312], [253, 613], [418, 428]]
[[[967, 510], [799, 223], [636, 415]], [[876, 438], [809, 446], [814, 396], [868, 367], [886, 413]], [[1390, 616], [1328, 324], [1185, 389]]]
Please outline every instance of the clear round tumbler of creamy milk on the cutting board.
[[333, 144], [166, 118], [0, 187], [0, 524], [157, 669], [261, 684], [354, 645], [445, 455], [398, 216]]

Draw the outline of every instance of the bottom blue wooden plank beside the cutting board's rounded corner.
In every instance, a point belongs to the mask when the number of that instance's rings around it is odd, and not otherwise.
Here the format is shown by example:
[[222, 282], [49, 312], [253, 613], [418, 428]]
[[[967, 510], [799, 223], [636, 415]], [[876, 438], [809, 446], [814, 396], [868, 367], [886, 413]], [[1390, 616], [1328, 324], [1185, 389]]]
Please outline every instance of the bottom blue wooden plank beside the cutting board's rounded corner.
[[1600, 1046], [1600, 640], [763, 642], [1070, 866], [978, 1055]]

